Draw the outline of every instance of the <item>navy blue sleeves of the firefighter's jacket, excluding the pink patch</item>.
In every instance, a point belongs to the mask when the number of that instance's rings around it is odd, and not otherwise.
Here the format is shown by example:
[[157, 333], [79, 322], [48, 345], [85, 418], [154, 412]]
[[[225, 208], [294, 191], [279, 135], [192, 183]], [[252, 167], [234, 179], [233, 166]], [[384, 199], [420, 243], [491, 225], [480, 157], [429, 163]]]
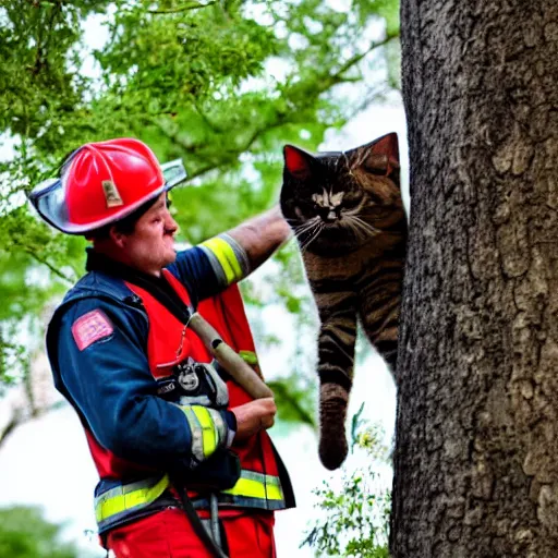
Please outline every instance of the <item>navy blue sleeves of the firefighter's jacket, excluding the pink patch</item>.
[[[186, 287], [194, 306], [227, 287], [199, 247], [178, 253], [168, 269]], [[113, 331], [80, 350], [72, 325], [95, 310], [105, 313]], [[183, 411], [156, 395], [147, 333], [147, 314], [124, 281], [89, 271], [68, 292], [49, 325], [54, 383], [84, 426], [117, 457], [158, 470], [191, 470], [191, 430]], [[234, 429], [234, 415], [221, 415]]]

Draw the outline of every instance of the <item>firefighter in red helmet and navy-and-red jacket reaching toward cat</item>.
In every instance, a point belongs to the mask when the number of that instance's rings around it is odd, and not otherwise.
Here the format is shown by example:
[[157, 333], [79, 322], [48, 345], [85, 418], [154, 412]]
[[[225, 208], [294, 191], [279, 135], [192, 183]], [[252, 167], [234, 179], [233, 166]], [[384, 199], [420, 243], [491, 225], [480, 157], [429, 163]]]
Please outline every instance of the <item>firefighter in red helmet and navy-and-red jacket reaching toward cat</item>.
[[47, 330], [54, 384], [85, 429], [100, 541], [118, 558], [272, 557], [274, 511], [294, 506], [266, 432], [276, 405], [216, 355], [230, 347], [257, 380], [236, 282], [290, 229], [271, 209], [175, 252], [168, 192], [184, 175], [171, 171], [118, 138], [80, 147], [32, 192], [47, 222], [93, 243]]

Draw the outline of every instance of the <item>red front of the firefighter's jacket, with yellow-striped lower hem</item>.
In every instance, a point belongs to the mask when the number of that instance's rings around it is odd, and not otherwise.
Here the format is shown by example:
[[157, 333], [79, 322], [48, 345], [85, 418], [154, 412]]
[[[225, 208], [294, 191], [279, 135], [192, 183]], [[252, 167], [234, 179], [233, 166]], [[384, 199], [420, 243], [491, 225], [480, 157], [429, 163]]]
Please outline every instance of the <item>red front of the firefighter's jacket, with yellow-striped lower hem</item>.
[[[163, 270], [163, 274], [182, 301], [190, 305], [190, 296], [184, 286], [171, 272]], [[194, 331], [185, 327], [146, 290], [135, 284], [126, 284], [142, 299], [147, 311], [147, 355], [155, 379], [170, 376], [173, 366], [189, 356], [196, 362], [211, 362], [211, 354]], [[219, 332], [226, 343], [247, 361], [257, 362], [254, 340], [235, 284], [216, 296], [202, 301], [197, 311]], [[227, 386], [229, 409], [252, 400], [251, 396], [234, 381], [227, 381]], [[294, 506], [289, 475], [266, 432], [260, 432], [247, 440], [233, 442], [231, 449], [240, 458], [242, 473], [234, 488], [218, 495], [220, 507], [278, 510]], [[206, 507], [204, 497], [194, 498], [194, 502], [196, 507]]]

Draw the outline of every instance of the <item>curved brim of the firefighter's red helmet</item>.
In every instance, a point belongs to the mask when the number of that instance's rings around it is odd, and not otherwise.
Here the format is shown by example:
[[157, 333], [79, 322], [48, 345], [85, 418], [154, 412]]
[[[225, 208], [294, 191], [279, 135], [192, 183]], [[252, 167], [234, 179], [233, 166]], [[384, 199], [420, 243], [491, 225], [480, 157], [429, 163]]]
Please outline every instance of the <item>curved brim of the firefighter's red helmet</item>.
[[86, 234], [87, 232], [123, 219], [134, 213], [143, 204], [149, 202], [149, 199], [173, 189], [187, 177], [181, 159], [161, 165], [161, 170], [165, 177], [165, 183], [160, 187], [149, 192], [148, 195], [137, 199], [135, 203], [123, 207], [122, 210], [94, 222], [75, 223], [70, 220], [61, 179], [48, 179], [41, 182], [29, 193], [28, 197], [40, 217], [50, 226], [66, 234]]

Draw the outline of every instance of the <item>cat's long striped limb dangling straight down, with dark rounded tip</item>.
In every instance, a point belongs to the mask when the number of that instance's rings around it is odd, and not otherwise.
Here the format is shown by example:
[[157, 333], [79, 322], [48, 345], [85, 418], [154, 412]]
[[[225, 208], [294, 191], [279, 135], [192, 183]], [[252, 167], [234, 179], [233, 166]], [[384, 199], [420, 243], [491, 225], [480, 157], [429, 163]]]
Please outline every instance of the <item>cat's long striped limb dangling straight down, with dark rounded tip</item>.
[[347, 408], [352, 387], [356, 312], [347, 305], [323, 320], [318, 341], [319, 459], [333, 471], [347, 458]]

